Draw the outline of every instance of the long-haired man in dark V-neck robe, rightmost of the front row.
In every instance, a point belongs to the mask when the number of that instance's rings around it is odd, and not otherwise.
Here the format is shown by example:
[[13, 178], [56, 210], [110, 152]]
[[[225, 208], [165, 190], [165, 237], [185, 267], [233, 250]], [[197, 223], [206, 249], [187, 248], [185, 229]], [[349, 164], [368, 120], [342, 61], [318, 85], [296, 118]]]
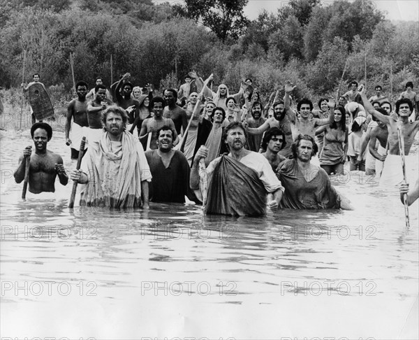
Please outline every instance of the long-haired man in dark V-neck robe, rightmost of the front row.
[[293, 160], [286, 160], [279, 166], [277, 176], [285, 187], [281, 208], [292, 209], [351, 209], [351, 205], [341, 197], [330, 184], [328, 173], [311, 164], [318, 146], [309, 135], [297, 137], [291, 146]]

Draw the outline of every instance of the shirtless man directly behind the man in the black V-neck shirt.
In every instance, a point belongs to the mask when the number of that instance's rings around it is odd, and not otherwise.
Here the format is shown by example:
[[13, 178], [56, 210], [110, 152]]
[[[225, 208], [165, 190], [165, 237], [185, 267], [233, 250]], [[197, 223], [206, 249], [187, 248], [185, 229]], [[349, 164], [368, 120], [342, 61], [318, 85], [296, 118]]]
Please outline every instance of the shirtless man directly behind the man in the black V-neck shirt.
[[149, 146], [151, 150], [156, 150], [156, 148], [159, 147], [157, 143], [157, 132], [163, 126], [168, 126], [175, 131], [173, 146], [176, 146], [177, 143], [179, 143], [179, 136], [176, 133], [175, 123], [170, 118], [164, 118], [162, 115], [164, 104], [165, 100], [163, 98], [154, 97], [152, 101], [150, 101], [150, 108], [152, 108], [154, 116], [152, 118], [146, 118], [141, 125], [140, 140], [147, 139], [149, 133], [152, 133], [152, 139]]

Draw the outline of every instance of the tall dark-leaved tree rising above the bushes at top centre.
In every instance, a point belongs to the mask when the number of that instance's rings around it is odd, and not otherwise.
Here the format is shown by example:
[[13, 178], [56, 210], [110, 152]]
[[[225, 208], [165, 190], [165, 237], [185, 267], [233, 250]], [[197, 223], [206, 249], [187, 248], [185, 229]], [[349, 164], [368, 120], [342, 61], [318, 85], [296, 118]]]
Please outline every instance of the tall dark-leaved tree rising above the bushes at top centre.
[[185, 0], [185, 5], [175, 5], [177, 13], [189, 17], [211, 29], [224, 43], [237, 39], [249, 25], [243, 8], [249, 0]]

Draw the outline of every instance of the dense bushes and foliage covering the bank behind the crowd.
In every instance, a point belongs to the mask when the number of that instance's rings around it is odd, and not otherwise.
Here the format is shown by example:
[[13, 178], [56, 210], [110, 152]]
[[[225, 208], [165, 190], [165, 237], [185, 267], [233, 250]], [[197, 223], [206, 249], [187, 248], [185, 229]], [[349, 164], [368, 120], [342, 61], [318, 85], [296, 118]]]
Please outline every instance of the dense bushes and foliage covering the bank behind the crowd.
[[[17, 87], [41, 73], [46, 85], [75, 80], [105, 84], [130, 72], [135, 85], [174, 86], [196, 69], [203, 77], [238, 90], [251, 77], [266, 99], [290, 78], [297, 97], [342, 91], [352, 79], [373, 90], [400, 92], [406, 80], [419, 83], [419, 24], [389, 22], [370, 1], [291, 0], [277, 13], [250, 22], [247, 0], [1, 0], [0, 85]], [[284, 3], [282, 3], [284, 4]], [[212, 13], [212, 21], [208, 14]], [[217, 16], [218, 15], [218, 16]]]

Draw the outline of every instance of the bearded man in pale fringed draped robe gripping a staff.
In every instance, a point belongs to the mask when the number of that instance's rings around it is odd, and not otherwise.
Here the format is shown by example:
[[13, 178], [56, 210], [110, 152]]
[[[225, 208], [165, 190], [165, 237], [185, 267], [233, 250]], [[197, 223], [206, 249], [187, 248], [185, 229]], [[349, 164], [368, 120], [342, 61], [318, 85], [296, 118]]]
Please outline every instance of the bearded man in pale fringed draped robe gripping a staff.
[[103, 112], [101, 140], [89, 145], [81, 169], [71, 172], [72, 180], [84, 184], [80, 206], [149, 207], [152, 175], [140, 142], [126, 132], [126, 121], [123, 108]]

